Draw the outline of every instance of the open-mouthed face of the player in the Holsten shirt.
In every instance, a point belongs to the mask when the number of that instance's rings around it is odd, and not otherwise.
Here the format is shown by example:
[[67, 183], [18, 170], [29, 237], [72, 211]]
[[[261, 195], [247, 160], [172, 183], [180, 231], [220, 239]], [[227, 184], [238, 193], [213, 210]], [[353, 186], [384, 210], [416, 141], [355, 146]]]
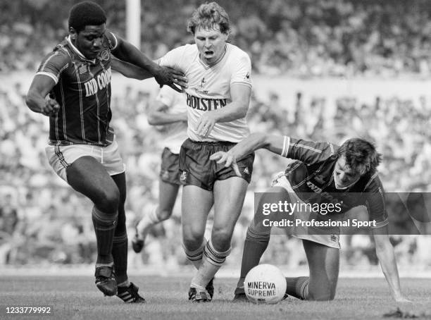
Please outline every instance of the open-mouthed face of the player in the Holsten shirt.
[[220, 32], [220, 27], [201, 28], [194, 32], [194, 42], [199, 50], [199, 56], [205, 63], [211, 64], [223, 55], [226, 47], [227, 34]]

